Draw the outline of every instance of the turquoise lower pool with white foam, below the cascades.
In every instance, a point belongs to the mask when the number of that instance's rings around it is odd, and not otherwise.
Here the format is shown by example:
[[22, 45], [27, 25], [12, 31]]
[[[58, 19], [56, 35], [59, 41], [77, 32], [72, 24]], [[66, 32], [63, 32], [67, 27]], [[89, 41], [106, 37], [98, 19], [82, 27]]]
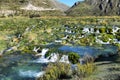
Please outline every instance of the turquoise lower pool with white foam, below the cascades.
[[44, 74], [44, 64], [31, 63], [31, 55], [7, 55], [0, 58], [0, 80], [35, 80]]

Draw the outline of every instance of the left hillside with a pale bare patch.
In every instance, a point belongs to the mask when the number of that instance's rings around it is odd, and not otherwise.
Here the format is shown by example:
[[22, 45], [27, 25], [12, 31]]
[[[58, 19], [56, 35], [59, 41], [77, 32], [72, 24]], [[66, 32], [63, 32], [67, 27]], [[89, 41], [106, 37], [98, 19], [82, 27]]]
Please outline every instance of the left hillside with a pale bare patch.
[[67, 5], [57, 0], [0, 0], [0, 13], [2, 14], [24, 10], [27, 12], [42, 12], [41, 14], [44, 15], [49, 14], [49, 12], [50, 15], [52, 15], [52, 13], [54, 15], [56, 12], [57, 14], [65, 15], [64, 11], [67, 9], [69, 9]]

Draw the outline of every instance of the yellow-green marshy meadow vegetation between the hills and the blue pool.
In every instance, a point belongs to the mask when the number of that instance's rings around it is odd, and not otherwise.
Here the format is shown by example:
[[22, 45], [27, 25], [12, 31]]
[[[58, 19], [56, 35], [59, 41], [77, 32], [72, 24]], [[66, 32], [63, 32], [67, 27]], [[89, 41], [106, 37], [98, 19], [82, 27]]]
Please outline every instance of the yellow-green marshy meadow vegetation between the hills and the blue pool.
[[[19, 44], [17, 48], [18, 50], [31, 52], [35, 45], [47, 45], [66, 36], [67, 39], [63, 39], [61, 43], [57, 44], [83, 46], [99, 45], [99, 43], [96, 43], [96, 36], [98, 36], [98, 39], [102, 40], [103, 42], [110, 40], [111, 44], [113, 44], [114, 38], [117, 38], [119, 40], [119, 31], [115, 33], [116, 35], [113, 35], [111, 29], [111, 23], [120, 20], [118, 17], [107, 17], [105, 20], [107, 22], [107, 26], [104, 26], [104, 24], [101, 24], [101, 22], [96, 22], [97, 20], [103, 20], [103, 18], [4, 18], [0, 20], [0, 45], [2, 45], [0, 50], [17, 46]], [[101, 26], [98, 28], [96, 27], [97, 24], [98, 26]], [[73, 33], [65, 32], [65, 25], [68, 25], [69, 30], [71, 30]], [[82, 30], [85, 25], [89, 25], [89, 27], [95, 27], [95, 33], [83, 33]], [[101, 33], [96, 34], [97, 30], [99, 30]], [[82, 35], [84, 35], [84, 37], [79, 38]], [[52, 52], [56, 50], [57, 49], [51, 49]]]

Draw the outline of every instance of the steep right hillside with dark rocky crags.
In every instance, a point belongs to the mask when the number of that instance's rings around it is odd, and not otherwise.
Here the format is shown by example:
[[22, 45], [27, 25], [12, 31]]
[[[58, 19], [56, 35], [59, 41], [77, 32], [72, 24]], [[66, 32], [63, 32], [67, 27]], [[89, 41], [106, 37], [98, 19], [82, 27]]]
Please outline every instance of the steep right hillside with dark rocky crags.
[[72, 16], [120, 15], [120, 0], [85, 0], [76, 2], [66, 13]]

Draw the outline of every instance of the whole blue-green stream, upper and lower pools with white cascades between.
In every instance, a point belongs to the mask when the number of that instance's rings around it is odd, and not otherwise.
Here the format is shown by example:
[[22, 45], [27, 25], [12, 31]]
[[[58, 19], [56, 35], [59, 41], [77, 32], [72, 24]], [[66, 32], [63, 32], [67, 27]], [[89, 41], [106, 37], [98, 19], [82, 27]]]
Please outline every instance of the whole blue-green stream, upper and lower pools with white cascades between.
[[[61, 46], [58, 48], [61, 51], [76, 52], [80, 56], [89, 54], [97, 57], [99, 55], [115, 54], [117, 47], [113, 45], [104, 45], [103, 47], [90, 47], [90, 46]], [[42, 76], [45, 72], [42, 68], [48, 62], [56, 62], [58, 54], [52, 53], [49, 57], [45, 58], [45, 54], [49, 49], [42, 49], [41, 55], [34, 58], [30, 54], [19, 54], [19, 52], [5, 55], [0, 58], [0, 80], [35, 80], [37, 77]], [[68, 56], [64, 54], [59, 62], [69, 63]]]

